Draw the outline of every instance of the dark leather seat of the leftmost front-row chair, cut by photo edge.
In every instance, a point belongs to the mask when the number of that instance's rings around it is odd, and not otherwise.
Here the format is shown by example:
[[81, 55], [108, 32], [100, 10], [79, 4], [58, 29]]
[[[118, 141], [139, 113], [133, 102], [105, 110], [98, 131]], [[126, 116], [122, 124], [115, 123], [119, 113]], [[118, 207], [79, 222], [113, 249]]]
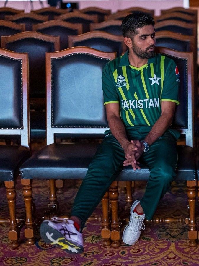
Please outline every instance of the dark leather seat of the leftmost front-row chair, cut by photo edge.
[[[19, 166], [30, 156], [22, 146], [0, 146], [0, 180], [13, 181], [19, 175]], [[15, 176], [17, 173], [17, 176]]]

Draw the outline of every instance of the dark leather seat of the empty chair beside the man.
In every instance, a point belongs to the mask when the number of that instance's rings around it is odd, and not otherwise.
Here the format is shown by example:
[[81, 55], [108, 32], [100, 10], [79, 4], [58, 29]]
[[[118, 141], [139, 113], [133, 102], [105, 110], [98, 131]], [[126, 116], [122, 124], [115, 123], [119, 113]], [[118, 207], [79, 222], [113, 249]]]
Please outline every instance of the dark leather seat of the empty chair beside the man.
[[50, 144], [20, 168], [22, 179], [83, 179], [98, 143]]

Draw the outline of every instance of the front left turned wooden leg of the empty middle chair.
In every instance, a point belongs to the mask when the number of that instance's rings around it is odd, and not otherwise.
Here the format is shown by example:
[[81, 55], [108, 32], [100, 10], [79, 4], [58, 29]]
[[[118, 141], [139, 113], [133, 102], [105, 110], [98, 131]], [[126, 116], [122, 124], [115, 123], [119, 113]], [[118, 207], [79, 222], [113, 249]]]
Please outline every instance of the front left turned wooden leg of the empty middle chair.
[[26, 210], [26, 228], [24, 230], [25, 237], [27, 238], [26, 244], [33, 245], [35, 243], [34, 239], [34, 225], [32, 218], [32, 179], [22, 179], [23, 186], [23, 196], [25, 202]]

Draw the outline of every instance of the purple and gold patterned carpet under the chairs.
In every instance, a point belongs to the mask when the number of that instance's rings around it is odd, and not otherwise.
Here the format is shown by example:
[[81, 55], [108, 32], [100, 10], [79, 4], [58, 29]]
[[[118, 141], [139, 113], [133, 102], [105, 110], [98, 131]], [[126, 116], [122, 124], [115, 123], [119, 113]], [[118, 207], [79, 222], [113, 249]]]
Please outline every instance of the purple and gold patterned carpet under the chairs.
[[[36, 204], [36, 217], [40, 216], [48, 204], [47, 181], [33, 181], [33, 197]], [[60, 210], [69, 212], [79, 181], [68, 184], [65, 182], [64, 192], [58, 194]], [[134, 199], [140, 199], [144, 193], [145, 182], [136, 182], [133, 193]], [[0, 194], [5, 195], [4, 186]], [[119, 209], [123, 212], [125, 194], [120, 193]], [[0, 198], [0, 215], [8, 216], [5, 197]], [[173, 182], [171, 189], [159, 203], [157, 216], [167, 216], [174, 213], [187, 215], [187, 196], [185, 184]], [[198, 206], [198, 205], [197, 205]], [[197, 207], [198, 210], [198, 207]], [[24, 203], [20, 181], [17, 182], [17, 216], [24, 213]], [[101, 204], [94, 214], [101, 214]], [[141, 239], [134, 246], [121, 246], [117, 249], [102, 246], [100, 223], [87, 222], [84, 230], [84, 253], [69, 255], [63, 250], [52, 247], [40, 239], [37, 231], [35, 245], [26, 246], [24, 228], [21, 231], [21, 245], [10, 249], [7, 237], [8, 224], [0, 225], [0, 266], [1, 265], [199, 265], [198, 247], [190, 248], [187, 240], [187, 225], [185, 224], [147, 224], [141, 233]]]

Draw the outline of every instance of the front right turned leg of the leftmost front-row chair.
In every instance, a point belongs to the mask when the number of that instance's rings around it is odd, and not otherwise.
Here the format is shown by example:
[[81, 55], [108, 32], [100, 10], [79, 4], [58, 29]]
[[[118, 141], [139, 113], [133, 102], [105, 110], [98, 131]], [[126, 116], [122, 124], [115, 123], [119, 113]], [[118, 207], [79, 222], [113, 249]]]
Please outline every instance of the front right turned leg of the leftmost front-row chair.
[[16, 181], [5, 181], [6, 196], [8, 200], [10, 219], [9, 219], [9, 233], [8, 237], [11, 241], [11, 246], [17, 248], [19, 246], [20, 229], [16, 220]]

